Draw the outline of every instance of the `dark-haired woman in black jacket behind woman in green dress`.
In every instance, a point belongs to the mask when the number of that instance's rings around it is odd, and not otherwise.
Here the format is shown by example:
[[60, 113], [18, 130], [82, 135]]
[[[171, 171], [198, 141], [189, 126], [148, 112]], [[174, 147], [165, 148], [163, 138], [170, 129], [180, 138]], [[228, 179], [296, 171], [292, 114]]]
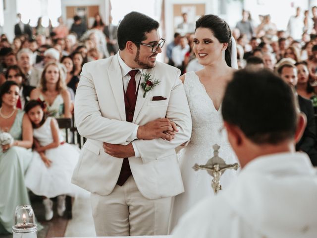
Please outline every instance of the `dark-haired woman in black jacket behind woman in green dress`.
[[5, 72], [5, 78], [18, 84], [20, 91], [16, 107], [23, 110], [24, 105], [30, 100], [31, 91], [35, 87], [25, 84], [27, 79], [18, 65], [9, 66]]

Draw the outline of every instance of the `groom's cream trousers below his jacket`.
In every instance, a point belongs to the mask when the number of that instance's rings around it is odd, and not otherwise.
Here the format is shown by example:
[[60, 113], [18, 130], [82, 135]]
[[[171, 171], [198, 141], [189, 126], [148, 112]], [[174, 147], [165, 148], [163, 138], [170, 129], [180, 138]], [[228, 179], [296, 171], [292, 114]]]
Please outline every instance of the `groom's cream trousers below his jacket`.
[[167, 235], [171, 197], [144, 197], [132, 176], [107, 196], [91, 193], [97, 237]]

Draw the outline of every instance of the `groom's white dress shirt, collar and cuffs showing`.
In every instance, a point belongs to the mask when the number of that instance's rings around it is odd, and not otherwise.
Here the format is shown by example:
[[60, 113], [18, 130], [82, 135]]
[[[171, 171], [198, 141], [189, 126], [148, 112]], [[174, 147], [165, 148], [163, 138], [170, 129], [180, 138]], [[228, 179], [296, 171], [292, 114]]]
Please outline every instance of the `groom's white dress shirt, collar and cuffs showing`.
[[[130, 68], [123, 60], [122, 58], [120, 57], [120, 54], [117, 54], [118, 56], [118, 60], [119, 60], [119, 65], [120, 65], [120, 68], [121, 68], [121, 75], [122, 75], [122, 82], [123, 82], [123, 89], [124, 89], [124, 92], [127, 91], [127, 88], [128, 88], [128, 84], [129, 84], [129, 81], [131, 79], [131, 76], [129, 75], [129, 72], [131, 70], [133, 70], [132, 68]], [[142, 74], [142, 68], [134, 68], [134, 69], [139, 69], [139, 72], [135, 75], [135, 81], [136, 81], [136, 92], [138, 91], [138, 87], [139, 87], [139, 82], [140, 82], [140, 79], [141, 79], [141, 74]], [[136, 140], [138, 139], [137, 137], [137, 132], [138, 132], [138, 128], [139, 128], [139, 125], [136, 126], [135, 130], [133, 131], [132, 135], [131, 135], [131, 140]], [[138, 151], [138, 148], [135, 146], [134, 142], [132, 141], [132, 146], [133, 146], [133, 149], [134, 149], [134, 153], [135, 153], [135, 157], [140, 157], [140, 153]]]

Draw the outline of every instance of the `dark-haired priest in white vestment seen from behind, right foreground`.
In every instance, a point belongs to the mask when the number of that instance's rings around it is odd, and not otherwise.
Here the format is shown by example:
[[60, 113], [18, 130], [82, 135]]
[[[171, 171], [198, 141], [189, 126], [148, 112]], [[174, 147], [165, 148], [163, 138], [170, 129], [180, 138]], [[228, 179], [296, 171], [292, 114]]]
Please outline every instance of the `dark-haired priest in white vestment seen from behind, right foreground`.
[[221, 113], [242, 170], [188, 212], [173, 238], [315, 238], [317, 175], [295, 152], [305, 117], [291, 87], [265, 69], [237, 71]]

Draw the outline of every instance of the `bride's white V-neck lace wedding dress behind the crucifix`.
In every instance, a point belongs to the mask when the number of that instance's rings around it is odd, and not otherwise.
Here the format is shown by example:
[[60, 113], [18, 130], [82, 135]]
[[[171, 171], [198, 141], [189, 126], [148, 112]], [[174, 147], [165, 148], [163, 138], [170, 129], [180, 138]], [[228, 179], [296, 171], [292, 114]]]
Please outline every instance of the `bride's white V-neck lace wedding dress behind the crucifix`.
[[[184, 89], [192, 115], [192, 137], [189, 144], [180, 151], [179, 163], [185, 192], [175, 197], [169, 230], [176, 226], [180, 217], [200, 200], [213, 196], [212, 177], [206, 170], [194, 171], [195, 163], [205, 165], [213, 157], [212, 145], [220, 146], [219, 156], [226, 164], [237, 163], [238, 160], [227, 140], [223, 128], [221, 106], [217, 111], [204, 85], [195, 72], [185, 74]], [[226, 189], [235, 178], [236, 171], [227, 170], [221, 176], [220, 184]], [[220, 191], [221, 192], [221, 191]]]

